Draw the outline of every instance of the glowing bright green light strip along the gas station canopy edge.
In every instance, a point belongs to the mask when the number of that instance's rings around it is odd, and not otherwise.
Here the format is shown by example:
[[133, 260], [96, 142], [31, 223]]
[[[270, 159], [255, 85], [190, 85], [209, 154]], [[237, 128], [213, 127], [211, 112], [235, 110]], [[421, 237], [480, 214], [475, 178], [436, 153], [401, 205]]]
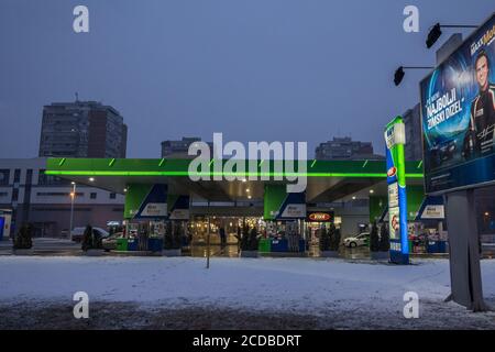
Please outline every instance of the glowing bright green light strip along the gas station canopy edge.
[[[57, 170], [46, 170], [46, 175], [54, 176], [302, 176], [302, 177], [383, 177], [385, 178], [386, 173], [222, 173], [222, 172], [89, 172], [89, 170], [78, 170], [78, 172], [57, 172]], [[407, 174], [408, 178], [422, 178], [422, 174]]]

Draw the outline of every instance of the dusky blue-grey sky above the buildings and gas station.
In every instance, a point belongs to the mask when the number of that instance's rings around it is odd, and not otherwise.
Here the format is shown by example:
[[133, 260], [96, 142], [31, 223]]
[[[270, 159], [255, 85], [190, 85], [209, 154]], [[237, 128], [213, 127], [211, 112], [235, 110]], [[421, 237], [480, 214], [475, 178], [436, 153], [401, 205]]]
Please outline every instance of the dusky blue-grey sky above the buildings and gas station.
[[[73, 9], [89, 8], [89, 33]], [[420, 32], [403, 10], [419, 8]], [[0, 157], [34, 157], [44, 105], [97, 100], [129, 125], [128, 157], [160, 157], [161, 141], [371, 141], [419, 102], [435, 51], [429, 28], [481, 24], [493, 0], [0, 0]], [[472, 30], [461, 31], [465, 34]]]

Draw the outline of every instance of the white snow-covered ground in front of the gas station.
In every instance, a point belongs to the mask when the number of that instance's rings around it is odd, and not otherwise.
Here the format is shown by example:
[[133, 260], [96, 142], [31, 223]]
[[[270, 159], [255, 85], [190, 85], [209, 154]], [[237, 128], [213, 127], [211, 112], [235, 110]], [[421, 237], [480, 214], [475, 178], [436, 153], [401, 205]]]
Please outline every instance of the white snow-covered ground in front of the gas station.
[[[337, 328], [492, 328], [495, 314], [453, 302], [447, 260], [415, 265], [320, 258], [0, 257], [0, 301], [73, 305], [134, 302], [142, 309], [233, 309], [263, 315], [332, 317]], [[495, 302], [495, 260], [482, 261], [484, 296]], [[405, 319], [406, 292], [419, 296], [420, 318]], [[464, 319], [464, 320], [463, 320]], [[470, 320], [471, 319], [471, 320]]]

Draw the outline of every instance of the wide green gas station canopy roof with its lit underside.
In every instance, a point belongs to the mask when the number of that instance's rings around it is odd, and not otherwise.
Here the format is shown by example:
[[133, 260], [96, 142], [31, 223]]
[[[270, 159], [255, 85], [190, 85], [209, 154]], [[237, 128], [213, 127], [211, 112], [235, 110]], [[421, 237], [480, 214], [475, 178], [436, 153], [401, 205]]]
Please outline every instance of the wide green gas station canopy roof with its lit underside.
[[[117, 194], [125, 194], [130, 184], [167, 184], [177, 195], [196, 195], [210, 201], [263, 199], [264, 185], [289, 184], [287, 176], [307, 177], [306, 201], [334, 201], [351, 195], [386, 196], [385, 161], [306, 161], [306, 170], [285, 170], [282, 161], [256, 162], [256, 172], [235, 174], [238, 180], [229, 182], [218, 173], [211, 160], [209, 170], [202, 172], [209, 180], [189, 178], [188, 158], [48, 158], [46, 175], [70, 179], [76, 184], [98, 187]], [[227, 160], [222, 161], [222, 165]], [[250, 170], [250, 161], [245, 170]], [[266, 163], [266, 164], [265, 164]], [[265, 164], [265, 165], [263, 165]], [[294, 163], [297, 166], [297, 162]], [[282, 167], [282, 168], [280, 168]], [[223, 168], [221, 168], [223, 169]], [[213, 176], [221, 179], [213, 180]], [[245, 177], [245, 178], [244, 178]], [[406, 162], [408, 185], [422, 185], [422, 162]], [[278, 180], [277, 180], [278, 178]], [[249, 194], [246, 194], [249, 189]]]

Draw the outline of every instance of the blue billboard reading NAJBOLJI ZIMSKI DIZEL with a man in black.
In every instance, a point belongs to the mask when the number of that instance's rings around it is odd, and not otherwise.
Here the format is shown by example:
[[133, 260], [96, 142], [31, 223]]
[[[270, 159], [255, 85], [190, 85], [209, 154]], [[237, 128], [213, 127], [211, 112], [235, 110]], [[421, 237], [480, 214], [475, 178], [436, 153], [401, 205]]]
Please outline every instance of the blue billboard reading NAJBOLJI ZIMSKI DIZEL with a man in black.
[[495, 180], [495, 14], [420, 82], [428, 194]]

